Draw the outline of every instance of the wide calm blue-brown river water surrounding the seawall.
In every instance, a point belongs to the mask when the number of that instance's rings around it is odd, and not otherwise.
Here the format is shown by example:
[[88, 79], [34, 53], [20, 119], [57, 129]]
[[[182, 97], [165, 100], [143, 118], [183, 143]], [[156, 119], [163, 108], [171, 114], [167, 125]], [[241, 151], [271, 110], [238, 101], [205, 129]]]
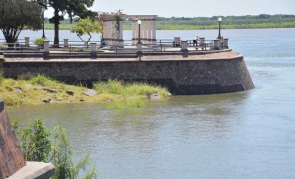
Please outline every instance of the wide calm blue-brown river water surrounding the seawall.
[[[222, 30], [229, 46], [245, 57], [251, 90], [175, 96], [123, 111], [49, 104], [8, 113], [25, 126], [39, 117], [49, 129], [60, 122], [74, 160], [91, 153], [100, 178], [294, 178], [294, 32]], [[210, 39], [217, 31], [157, 31], [158, 39], [195, 35]]]

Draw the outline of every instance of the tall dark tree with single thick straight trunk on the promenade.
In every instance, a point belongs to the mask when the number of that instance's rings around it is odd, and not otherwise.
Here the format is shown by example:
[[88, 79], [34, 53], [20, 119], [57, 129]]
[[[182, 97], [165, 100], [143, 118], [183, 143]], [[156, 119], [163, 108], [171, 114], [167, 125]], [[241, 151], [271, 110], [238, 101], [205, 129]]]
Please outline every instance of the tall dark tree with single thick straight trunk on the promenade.
[[37, 1], [45, 9], [52, 7], [54, 9], [53, 17], [49, 19], [50, 23], [54, 23], [54, 44], [59, 45], [59, 24], [64, 20], [65, 14], [69, 15], [70, 22], [73, 17], [79, 16], [80, 18], [93, 18], [97, 15], [87, 9], [93, 5], [94, 0], [34, 0]]

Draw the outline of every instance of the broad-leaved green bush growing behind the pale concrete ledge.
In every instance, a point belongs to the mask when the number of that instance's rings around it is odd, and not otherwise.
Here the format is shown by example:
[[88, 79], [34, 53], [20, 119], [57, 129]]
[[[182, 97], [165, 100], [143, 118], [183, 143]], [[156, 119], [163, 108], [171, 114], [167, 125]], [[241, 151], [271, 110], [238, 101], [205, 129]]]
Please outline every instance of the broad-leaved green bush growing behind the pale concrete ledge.
[[22, 131], [18, 128], [17, 121], [14, 121], [11, 125], [19, 137], [25, 160], [47, 162], [51, 142], [48, 139], [50, 132], [44, 127], [44, 122], [41, 119], [36, 119], [33, 123], [30, 123], [30, 128], [25, 127]]

